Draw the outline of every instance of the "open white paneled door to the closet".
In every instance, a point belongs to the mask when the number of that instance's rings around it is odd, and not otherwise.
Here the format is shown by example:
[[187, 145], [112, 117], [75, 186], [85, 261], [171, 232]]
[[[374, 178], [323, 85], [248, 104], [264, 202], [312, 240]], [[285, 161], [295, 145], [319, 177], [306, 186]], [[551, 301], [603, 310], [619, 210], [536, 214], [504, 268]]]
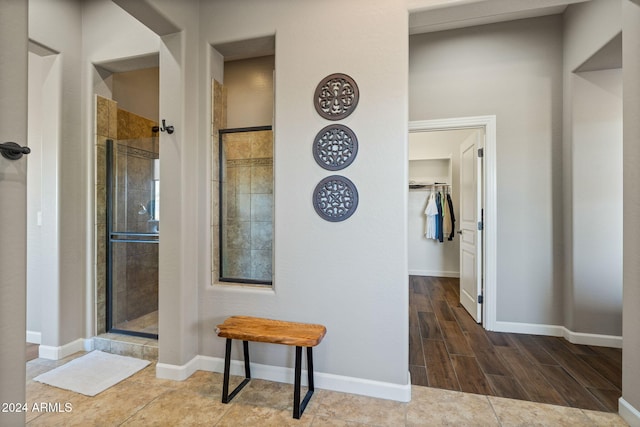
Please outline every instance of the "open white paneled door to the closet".
[[460, 304], [482, 322], [482, 158], [477, 132], [460, 145]]

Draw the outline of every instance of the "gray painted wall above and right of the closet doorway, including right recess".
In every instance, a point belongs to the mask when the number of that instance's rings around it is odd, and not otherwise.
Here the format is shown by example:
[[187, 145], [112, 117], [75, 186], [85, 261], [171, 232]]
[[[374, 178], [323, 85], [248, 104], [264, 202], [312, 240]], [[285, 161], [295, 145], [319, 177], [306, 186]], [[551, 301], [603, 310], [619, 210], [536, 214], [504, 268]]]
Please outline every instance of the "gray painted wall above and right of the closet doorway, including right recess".
[[498, 321], [621, 335], [621, 78], [572, 73], [617, 13], [600, 0], [410, 39], [412, 120], [497, 114]]

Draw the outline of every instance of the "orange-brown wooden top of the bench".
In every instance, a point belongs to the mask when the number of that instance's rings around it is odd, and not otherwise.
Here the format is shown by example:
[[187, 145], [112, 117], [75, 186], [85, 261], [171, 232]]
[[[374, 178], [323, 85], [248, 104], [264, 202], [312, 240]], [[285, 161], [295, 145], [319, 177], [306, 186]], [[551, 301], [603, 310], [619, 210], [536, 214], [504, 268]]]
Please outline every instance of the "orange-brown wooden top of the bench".
[[327, 328], [311, 323], [231, 316], [218, 325], [216, 333], [219, 337], [234, 340], [314, 347], [322, 341]]

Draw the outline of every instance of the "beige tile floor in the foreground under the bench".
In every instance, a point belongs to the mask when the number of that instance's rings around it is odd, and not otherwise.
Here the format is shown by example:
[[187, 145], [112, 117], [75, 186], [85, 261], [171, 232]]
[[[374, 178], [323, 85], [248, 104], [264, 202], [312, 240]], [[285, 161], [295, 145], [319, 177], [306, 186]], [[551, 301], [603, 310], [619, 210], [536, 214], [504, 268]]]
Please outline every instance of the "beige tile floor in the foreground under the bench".
[[[29, 426], [626, 426], [616, 414], [492, 396], [413, 387], [410, 403], [316, 389], [300, 420], [292, 386], [252, 380], [220, 402], [222, 375], [198, 371], [185, 381], [155, 377], [155, 363], [98, 394], [83, 396], [33, 381], [69, 360], [27, 363], [27, 403], [60, 403], [69, 412], [29, 412]], [[234, 378], [238, 381], [240, 378]], [[233, 384], [231, 385], [233, 387]]]

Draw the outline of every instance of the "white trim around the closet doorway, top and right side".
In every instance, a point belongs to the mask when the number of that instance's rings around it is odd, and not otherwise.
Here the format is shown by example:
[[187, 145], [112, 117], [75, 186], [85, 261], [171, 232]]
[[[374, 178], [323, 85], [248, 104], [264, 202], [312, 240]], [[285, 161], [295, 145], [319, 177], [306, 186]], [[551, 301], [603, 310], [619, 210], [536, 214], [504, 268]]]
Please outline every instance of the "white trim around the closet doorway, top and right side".
[[484, 128], [484, 303], [483, 327], [496, 330], [497, 312], [497, 200], [496, 200], [496, 116], [455, 117], [409, 122], [409, 133]]

